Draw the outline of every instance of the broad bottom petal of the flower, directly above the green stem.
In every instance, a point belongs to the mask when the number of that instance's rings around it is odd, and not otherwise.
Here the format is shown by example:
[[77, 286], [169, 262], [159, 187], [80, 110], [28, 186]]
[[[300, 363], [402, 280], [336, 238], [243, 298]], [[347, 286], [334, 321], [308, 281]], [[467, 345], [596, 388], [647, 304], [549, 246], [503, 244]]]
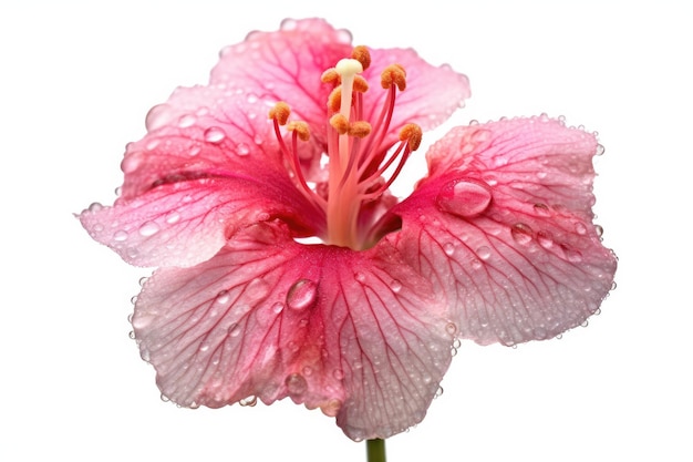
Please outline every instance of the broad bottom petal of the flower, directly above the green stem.
[[252, 225], [213, 259], [159, 269], [133, 326], [164, 396], [217, 408], [289, 397], [352, 439], [421, 421], [451, 360], [444, 305], [387, 245], [354, 253]]

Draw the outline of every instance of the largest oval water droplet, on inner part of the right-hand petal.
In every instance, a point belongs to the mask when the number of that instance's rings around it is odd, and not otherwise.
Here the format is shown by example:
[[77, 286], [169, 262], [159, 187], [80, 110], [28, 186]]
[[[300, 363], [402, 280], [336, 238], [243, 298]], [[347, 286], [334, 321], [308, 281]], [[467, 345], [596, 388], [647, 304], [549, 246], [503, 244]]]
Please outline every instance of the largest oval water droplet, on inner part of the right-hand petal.
[[436, 197], [436, 204], [443, 212], [461, 217], [480, 214], [490, 204], [492, 193], [488, 184], [474, 178], [457, 178], [446, 183]]

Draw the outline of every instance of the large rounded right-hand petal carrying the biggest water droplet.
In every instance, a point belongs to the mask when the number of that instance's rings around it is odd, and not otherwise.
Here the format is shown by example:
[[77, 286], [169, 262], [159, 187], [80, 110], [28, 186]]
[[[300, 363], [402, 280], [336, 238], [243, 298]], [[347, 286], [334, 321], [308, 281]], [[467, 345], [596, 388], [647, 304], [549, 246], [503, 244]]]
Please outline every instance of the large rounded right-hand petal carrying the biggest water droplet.
[[389, 238], [448, 297], [459, 336], [547, 339], [592, 315], [616, 257], [592, 224], [594, 136], [548, 117], [454, 129]]

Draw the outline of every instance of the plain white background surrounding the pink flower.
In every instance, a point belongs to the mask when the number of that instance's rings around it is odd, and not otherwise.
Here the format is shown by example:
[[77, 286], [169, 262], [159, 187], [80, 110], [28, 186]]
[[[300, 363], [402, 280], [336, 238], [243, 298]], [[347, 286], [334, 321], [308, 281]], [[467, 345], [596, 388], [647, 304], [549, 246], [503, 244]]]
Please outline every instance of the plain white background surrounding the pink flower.
[[290, 402], [162, 402], [127, 337], [148, 270], [72, 215], [112, 203], [147, 110], [204, 83], [223, 45], [310, 16], [466, 73], [473, 97], [457, 123], [562, 114], [607, 147], [596, 212], [620, 267], [602, 314], [561, 340], [465, 343], [389, 459], [693, 459], [686, 2], [384, 3], [2, 2], [0, 460], [364, 460], [332, 419]]

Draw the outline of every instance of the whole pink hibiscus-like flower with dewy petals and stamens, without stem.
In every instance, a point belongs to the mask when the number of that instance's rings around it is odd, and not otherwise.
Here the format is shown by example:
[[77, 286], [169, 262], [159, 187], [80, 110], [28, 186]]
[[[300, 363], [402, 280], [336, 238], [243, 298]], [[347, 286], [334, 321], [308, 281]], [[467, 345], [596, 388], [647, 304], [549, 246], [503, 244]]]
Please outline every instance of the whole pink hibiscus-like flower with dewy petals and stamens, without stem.
[[133, 327], [163, 394], [289, 397], [386, 438], [424, 418], [457, 339], [549, 339], [592, 315], [616, 271], [592, 224], [592, 134], [545, 115], [461, 126], [410, 197], [389, 193], [468, 95], [412, 50], [304, 20], [225, 49], [208, 85], [155, 106], [114, 206], [80, 219], [159, 267]]

